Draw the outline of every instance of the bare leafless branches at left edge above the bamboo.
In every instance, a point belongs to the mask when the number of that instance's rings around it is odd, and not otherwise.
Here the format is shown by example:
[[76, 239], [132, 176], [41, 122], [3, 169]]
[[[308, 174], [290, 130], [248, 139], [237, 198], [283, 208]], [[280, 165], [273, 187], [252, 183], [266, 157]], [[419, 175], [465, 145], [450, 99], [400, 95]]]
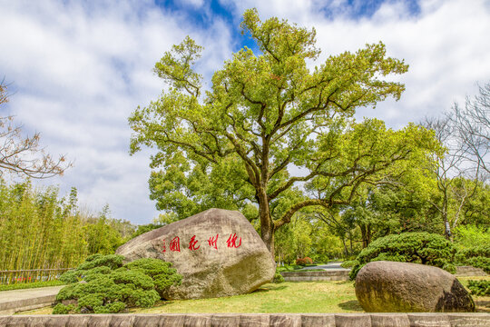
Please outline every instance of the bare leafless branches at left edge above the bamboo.
[[[8, 102], [5, 81], [0, 83], [0, 105]], [[63, 174], [71, 166], [61, 155], [55, 159], [40, 147], [40, 134], [24, 137], [22, 126], [13, 123], [13, 116], [0, 117], [0, 175], [5, 172], [33, 178]]]

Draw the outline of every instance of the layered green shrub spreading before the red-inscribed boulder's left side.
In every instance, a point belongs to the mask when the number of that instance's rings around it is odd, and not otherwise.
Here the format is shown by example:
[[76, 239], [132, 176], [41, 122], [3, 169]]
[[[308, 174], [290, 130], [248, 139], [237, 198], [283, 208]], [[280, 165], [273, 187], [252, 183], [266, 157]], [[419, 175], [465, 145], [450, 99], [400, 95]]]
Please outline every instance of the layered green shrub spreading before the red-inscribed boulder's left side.
[[96, 254], [82, 263], [66, 280], [83, 279], [64, 287], [57, 301], [76, 300], [76, 305], [58, 303], [54, 313], [117, 313], [127, 307], [151, 307], [181, 275], [171, 263], [140, 259], [122, 265], [121, 255]]

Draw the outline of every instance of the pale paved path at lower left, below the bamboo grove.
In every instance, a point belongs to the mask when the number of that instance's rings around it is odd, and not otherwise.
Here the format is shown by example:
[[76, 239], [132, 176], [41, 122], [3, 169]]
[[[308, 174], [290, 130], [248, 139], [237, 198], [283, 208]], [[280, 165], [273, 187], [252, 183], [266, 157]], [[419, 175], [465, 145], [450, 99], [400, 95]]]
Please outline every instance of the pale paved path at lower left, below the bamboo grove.
[[56, 294], [64, 286], [39, 287], [34, 289], [0, 292], [0, 314], [42, 308], [51, 305]]

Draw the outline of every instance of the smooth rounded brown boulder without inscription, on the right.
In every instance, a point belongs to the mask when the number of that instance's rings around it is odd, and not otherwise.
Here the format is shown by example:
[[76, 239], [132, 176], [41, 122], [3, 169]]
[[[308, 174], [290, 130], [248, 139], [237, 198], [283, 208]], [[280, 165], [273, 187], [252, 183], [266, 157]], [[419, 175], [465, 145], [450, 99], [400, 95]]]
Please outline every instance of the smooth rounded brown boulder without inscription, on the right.
[[417, 263], [366, 264], [356, 277], [366, 312], [475, 312], [475, 302], [455, 276]]

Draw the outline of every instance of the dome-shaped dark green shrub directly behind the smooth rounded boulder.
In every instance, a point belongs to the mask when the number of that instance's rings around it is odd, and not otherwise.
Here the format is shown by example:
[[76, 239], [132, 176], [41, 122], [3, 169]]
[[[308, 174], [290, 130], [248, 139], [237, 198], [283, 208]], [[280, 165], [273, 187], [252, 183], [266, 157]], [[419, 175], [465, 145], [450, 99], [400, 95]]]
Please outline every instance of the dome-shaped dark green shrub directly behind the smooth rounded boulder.
[[356, 279], [359, 270], [373, 261], [422, 263], [456, 272], [453, 264], [456, 248], [443, 236], [435, 233], [400, 233], [378, 238], [363, 249], [349, 272]]

